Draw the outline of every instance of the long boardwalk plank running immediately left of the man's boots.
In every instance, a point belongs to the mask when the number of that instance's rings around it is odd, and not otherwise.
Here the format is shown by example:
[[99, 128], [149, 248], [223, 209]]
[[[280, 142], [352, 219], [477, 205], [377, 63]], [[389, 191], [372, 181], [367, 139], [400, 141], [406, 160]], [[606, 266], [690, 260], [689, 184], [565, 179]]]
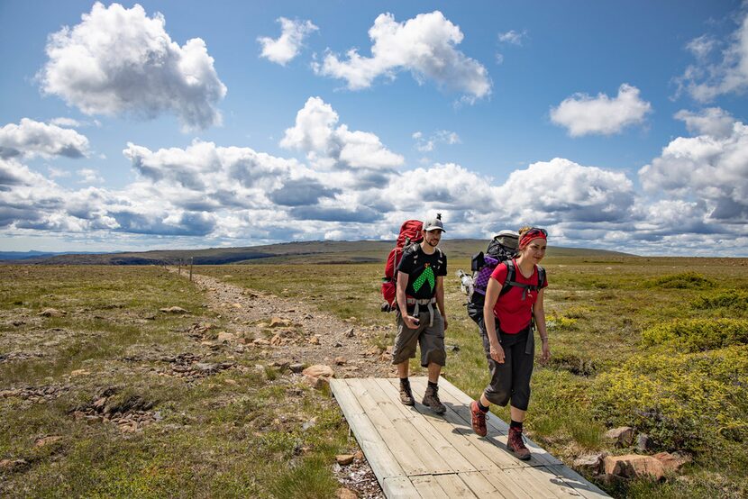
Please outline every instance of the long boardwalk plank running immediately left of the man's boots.
[[[407, 417], [407, 413], [400, 411], [400, 407], [403, 407], [403, 404], [400, 404], [399, 397], [397, 404], [395, 404], [373, 377], [363, 379], [360, 383], [366, 389], [370, 399], [377, 404], [382, 415], [388, 418], [395, 427], [400, 439], [394, 441], [399, 446], [406, 446], [412, 449], [415, 455], [421, 458], [421, 461], [426, 466], [426, 473], [439, 475], [454, 472], [450, 463], [442, 457], [439, 449], [433, 446], [433, 440], [429, 439], [428, 436], [424, 437], [424, 434], [418, 431], [413, 425], [414, 418], [409, 418]], [[393, 453], [396, 452], [393, 450]]]

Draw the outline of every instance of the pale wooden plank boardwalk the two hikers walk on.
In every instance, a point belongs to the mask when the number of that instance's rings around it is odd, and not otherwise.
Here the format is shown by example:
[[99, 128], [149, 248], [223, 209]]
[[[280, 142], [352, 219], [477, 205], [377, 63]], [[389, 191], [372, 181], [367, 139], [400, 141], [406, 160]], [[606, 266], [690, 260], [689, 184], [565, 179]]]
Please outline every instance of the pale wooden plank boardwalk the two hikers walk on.
[[528, 440], [521, 461], [506, 450], [508, 425], [488, 417], [488, 435], [470, 427], [470, 397], [440, 378], [447, 412], [420, 404], [425, 377], [411, 377], [415, 407], [400, 404], [397, 378], [331, 379], [333, 395], [388, 498], [608, 497]]

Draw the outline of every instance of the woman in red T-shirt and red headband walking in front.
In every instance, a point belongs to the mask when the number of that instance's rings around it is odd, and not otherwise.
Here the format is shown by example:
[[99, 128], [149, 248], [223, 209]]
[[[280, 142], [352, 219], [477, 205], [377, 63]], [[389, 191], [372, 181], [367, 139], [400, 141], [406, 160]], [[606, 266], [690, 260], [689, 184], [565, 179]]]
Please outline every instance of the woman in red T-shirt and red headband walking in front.
[[506, 406], [511, 402], [506, 447], [523, 460], [530, 458], [522, 438], [522, 423], [530, 402], [535, 327], [543, 341], [543, 361], [551, 357], [543, 311], [543, 288], [548, 283], [545, 271], [538, 266], [545, 256], [547, 238], [544, 229], [520, 229], [518, 257], [497, 265], [488, 279], [483, 305], [485, 327], [480, 333], [491, 379], [479, 399], [470, 404], [473, 431], [485, 437], [489, 405]]

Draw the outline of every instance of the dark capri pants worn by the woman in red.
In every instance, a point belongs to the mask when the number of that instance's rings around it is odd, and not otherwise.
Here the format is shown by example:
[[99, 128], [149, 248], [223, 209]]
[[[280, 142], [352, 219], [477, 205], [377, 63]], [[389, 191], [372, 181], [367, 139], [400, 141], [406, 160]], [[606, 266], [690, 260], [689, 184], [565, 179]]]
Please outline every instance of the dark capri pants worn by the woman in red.
[[511, 401], [512, 407], [526, 411], [530, 404], [530, 377], [533, 376], [535, 359], [532, 327], [527, 326], [526, 332], [517, 333], [526, 336], [526, 340], [513, 341], [516, 336], [500, 332], [497, 321], [496, 331], [501, 341], [501, 348], [504, 349], [504, 364], [499, 364], [491, 358], [488, 333], [482, 317], [479, 318], [478, 326], [483, 339], [483, 349], [486, 350], [486, 358], [488, 358], [488, 371], [491, 375], [491, 380], [483, 391], [488, 402], [506, 406]]

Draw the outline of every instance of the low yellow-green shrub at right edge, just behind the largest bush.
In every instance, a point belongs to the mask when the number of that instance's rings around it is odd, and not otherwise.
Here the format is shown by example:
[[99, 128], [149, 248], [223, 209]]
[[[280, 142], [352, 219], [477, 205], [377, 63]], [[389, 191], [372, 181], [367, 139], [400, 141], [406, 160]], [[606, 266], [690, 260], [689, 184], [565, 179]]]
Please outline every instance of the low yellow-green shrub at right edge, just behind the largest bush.
[[689, 319], [658, 324], [642, 333], [644, 345], [668, 344], [695, 352], [748, 344], [748, 320]]

